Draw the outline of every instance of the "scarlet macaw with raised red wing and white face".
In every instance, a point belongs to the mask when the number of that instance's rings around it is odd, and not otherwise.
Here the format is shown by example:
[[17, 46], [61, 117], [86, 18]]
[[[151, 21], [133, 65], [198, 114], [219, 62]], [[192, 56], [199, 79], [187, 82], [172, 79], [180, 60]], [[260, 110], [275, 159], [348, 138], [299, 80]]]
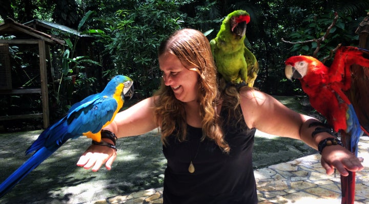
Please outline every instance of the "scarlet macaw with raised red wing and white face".
[[[358, 153], [363, 131], [369, 131], [369, 51], [356, 47], [338, 48], [332, 65], [325, 66], [310, 56], [293, 56], [285, 61], [287, 78], [299, 79], [311, 105], [341, 134], [345, 148]], [[341, 175], [342, 204], [354, 203], [355, 172]]]

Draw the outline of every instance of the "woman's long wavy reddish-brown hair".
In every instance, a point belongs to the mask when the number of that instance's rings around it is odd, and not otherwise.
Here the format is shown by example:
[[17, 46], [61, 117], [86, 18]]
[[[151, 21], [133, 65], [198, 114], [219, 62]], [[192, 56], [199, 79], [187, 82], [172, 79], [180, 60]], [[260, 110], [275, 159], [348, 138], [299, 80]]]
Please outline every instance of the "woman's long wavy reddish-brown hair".
[[[202, 140], [208, 137], [214, 140], [223, 151], [229, 152], [230, 147], [224, 140], [221, 122], [216, 111], [219, 102], [217, 71], [208, 38], [197, 30], [178, 30], [160, 44], [158, 56], [166, 52], [178, 57], [187, 69], [197, 68]], [[183, 102], [175, 98], [173, 90], [166, 86], [163, 80], [154, 96], [155, 118], [161, 128], [163, 144], [166, 145], [166, 139], [171, 134], [175, 134], [179, 141], [186, 141], [187, 122]]]

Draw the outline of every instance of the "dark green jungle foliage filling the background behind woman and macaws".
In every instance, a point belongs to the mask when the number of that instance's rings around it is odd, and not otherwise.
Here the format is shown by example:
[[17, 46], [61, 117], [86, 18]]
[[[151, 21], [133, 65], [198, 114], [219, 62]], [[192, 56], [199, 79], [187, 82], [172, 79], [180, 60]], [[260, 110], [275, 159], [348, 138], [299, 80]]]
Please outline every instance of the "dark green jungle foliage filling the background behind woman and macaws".
[[[246, 46], [258, 59], [260, 71], [255, 87], [271, 95], [304, 96], [299, 82], [284, 76], [284, 60], [293, 55], [313, 55], [322, 59], [341, 43], [357, 46], [355, 33], [369, 11], [369, 1], [195, 1], [195, 0], [1, 0], [0, 22], [10, 17], [24, 23], [33, 19], [56, 22], [91, 36], [87, 55], [79, 55], [77, 36], [53, 33], [66, 44], [51, 53], [59, 59], [53, 67], [56, 78], [49, 79], [50, 123], [63, 116], [70, 105], [100, 92], [114, 75], [131, 77], [135, 95], [125, 104], [149, 97], [159, 87], [157, 47], [175, 30], [193, 28], [210, 39], [219, 31], [228, 13], [243, 9], [251, 15]], [[332, 25], [335, 16], [338, 18]], [[324, 40], [318, 41], [313, 39]], [[12, 36], [0, 36], [2, 39]], [[307, 41], [304, 43], [290, 42]], [[319, 48], [319, 49], [317, 49]], [[12, 80], [17, 86], [37, 85], [27, 76], [24, 53], [10, 47]], [[27, 55], [37, 58], [35, 54]], [[329, 64], [329, 61], [326, 62]], [[37, 64], [36, 64], [37, 66]], [[20, 83], [19, 79], [25, 79]], [[29, 96], [0, 97], [2, 115], [40, 111], [40, 99]], [[39, 121], [2, 121], [4, 131], [18, 130], [19, 124]]]

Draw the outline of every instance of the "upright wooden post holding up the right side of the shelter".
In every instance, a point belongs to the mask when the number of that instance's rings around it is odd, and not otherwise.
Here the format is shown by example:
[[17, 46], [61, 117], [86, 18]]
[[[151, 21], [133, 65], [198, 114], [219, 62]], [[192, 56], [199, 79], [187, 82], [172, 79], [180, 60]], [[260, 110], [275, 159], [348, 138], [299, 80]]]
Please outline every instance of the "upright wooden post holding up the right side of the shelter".
[[38, 41], [39, 63], [40, 63], [40, 82], [41, 82], [41, 97], [43, 105], [44, 128], [47, 128], [49, 123], [49, 96], [47, 87], [47, 69], [46, 69], [46, 47], [45, 40]]

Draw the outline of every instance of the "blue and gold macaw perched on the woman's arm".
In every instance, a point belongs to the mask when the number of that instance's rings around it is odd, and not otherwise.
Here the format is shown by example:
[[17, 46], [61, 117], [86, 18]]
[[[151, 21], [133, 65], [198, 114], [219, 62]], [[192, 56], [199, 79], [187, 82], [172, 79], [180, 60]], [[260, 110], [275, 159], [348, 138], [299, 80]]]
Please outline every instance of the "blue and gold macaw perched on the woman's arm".
[[65, 117], [45, 129], [26, 150], [26, 154], [35, 153], [0, 185], [0, 197], [69, 139], [85, 135], [100, 142], [100, 130], [113, 121], [124, 104], [124, 96], [132, 93], [132, 84], [129, 77], [118, 75], [109, 81], [103, 92], [72, 105]]

